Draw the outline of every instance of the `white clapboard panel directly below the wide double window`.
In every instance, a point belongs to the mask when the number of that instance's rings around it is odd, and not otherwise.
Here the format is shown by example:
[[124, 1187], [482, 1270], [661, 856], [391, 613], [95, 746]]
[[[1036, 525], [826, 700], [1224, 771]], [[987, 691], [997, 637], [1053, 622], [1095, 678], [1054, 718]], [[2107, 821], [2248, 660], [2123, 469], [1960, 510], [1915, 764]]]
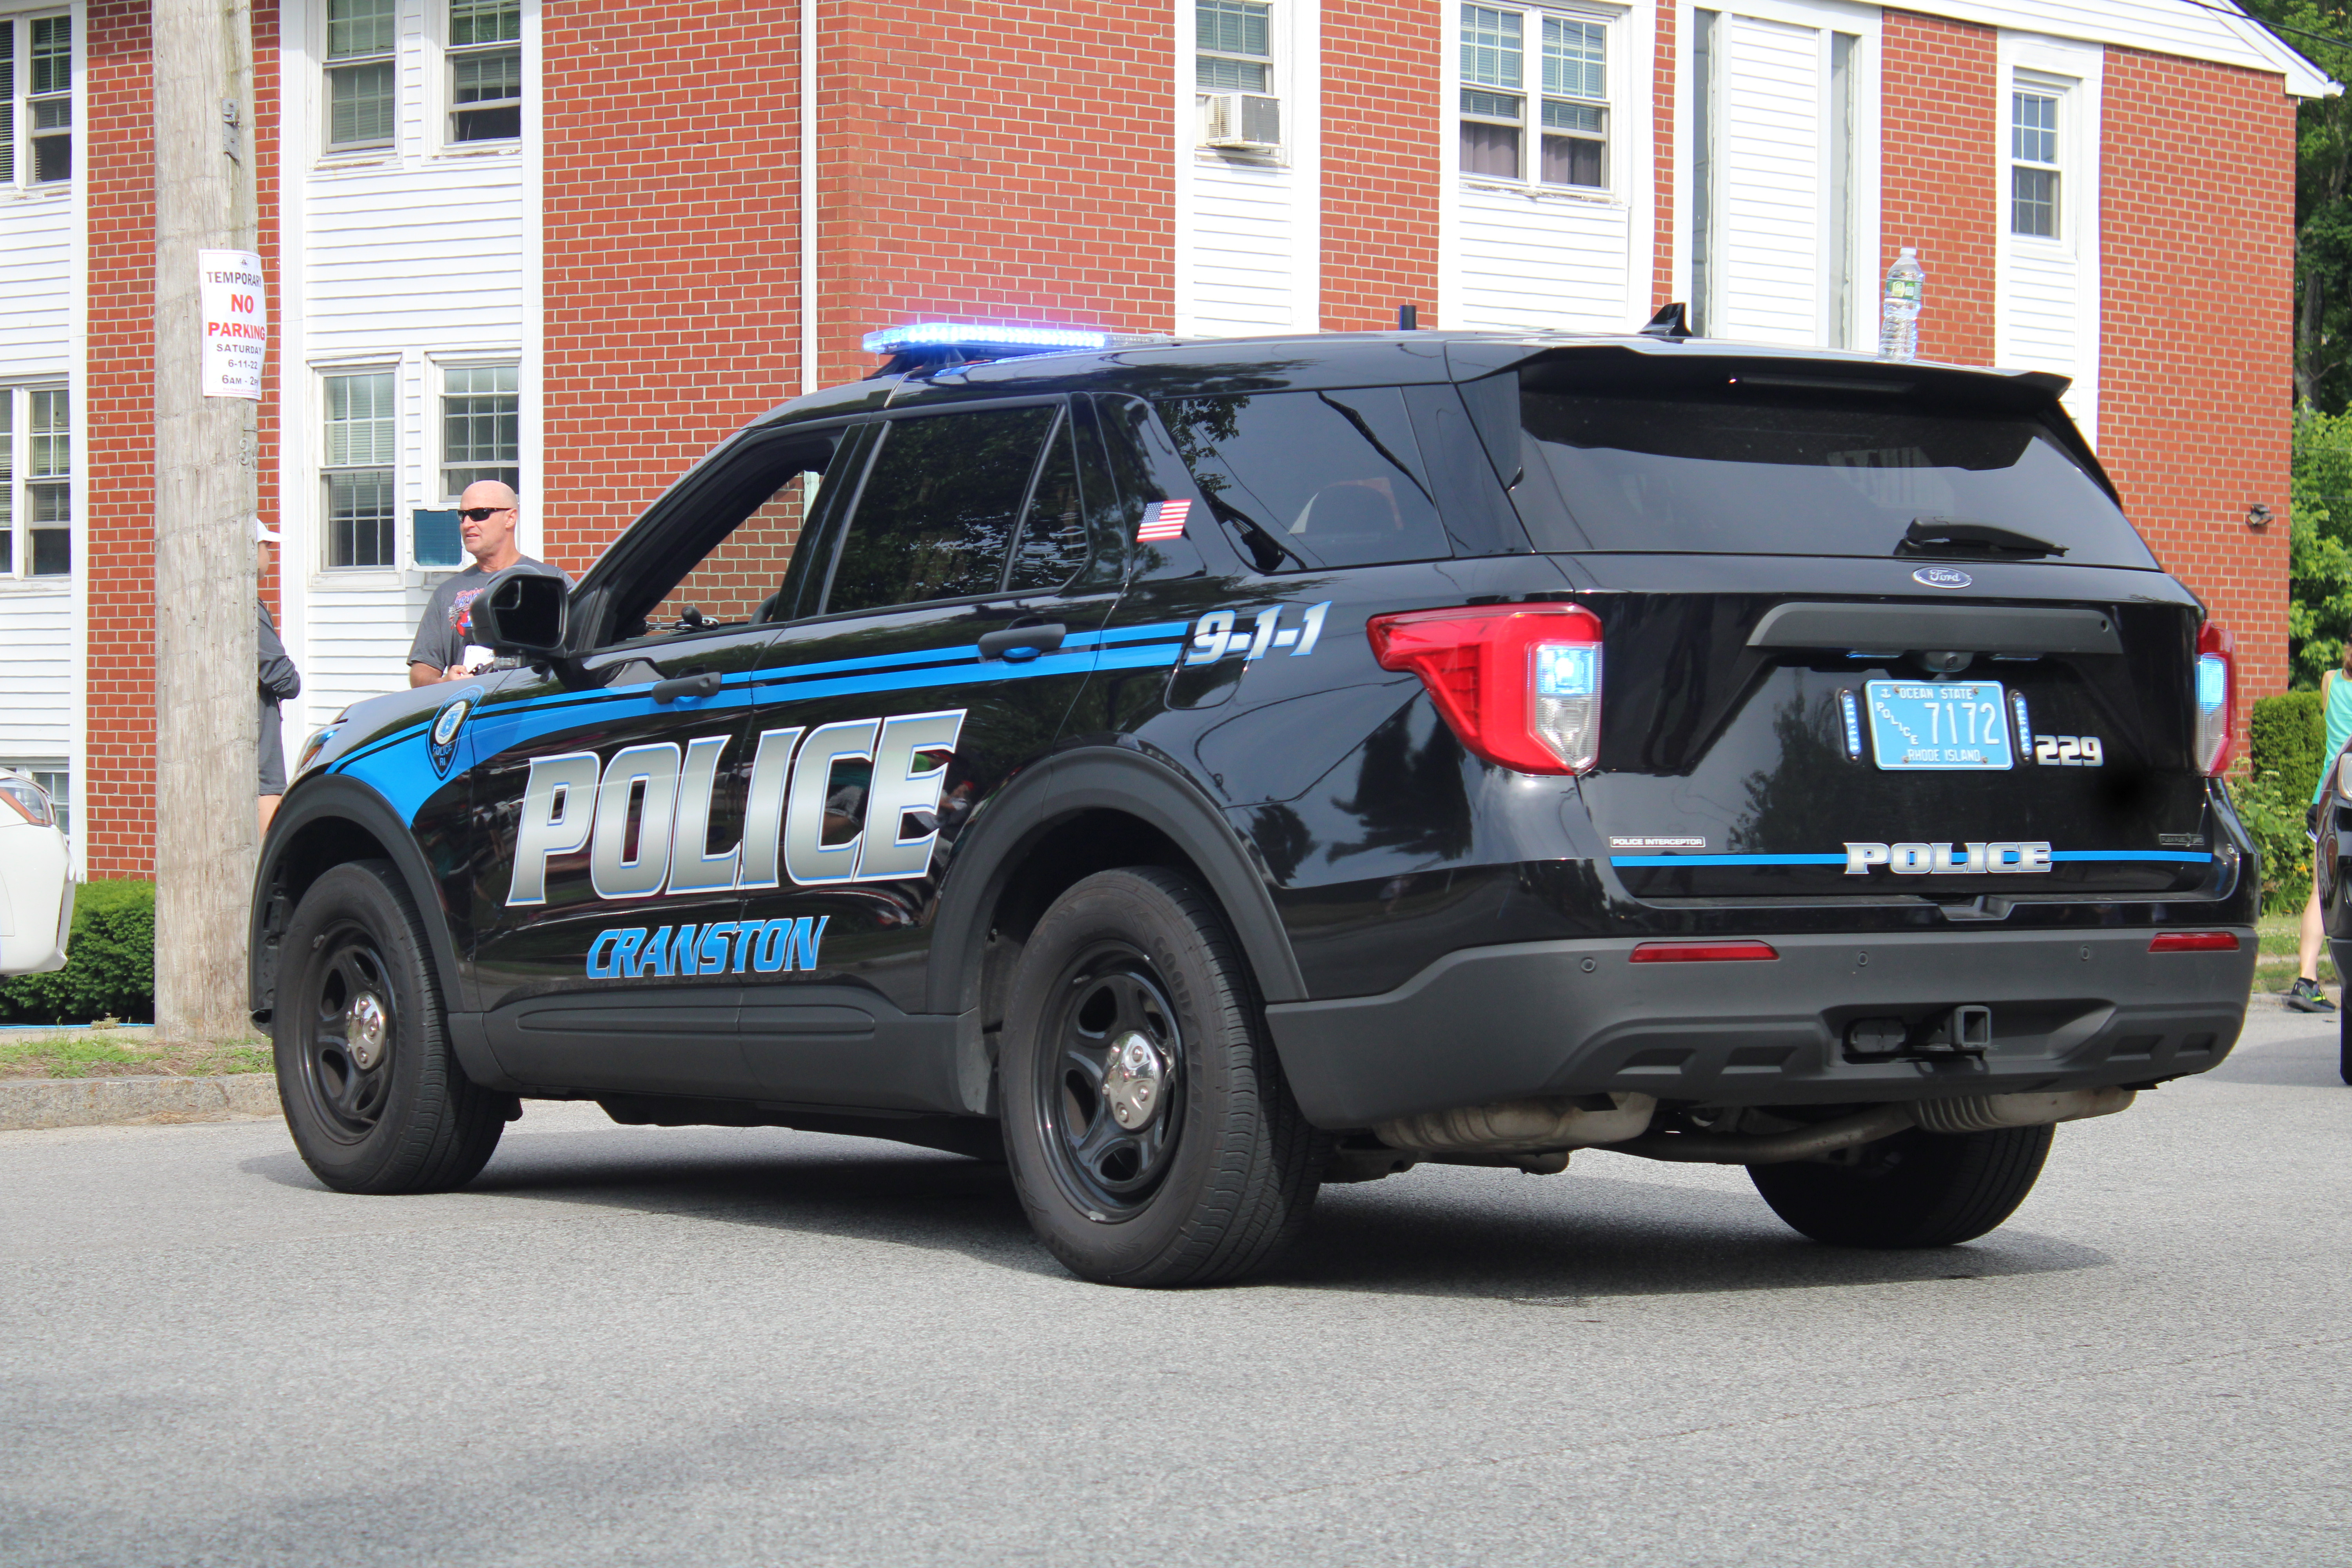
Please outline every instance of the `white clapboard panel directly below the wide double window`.
[[1461, 306], [1449, 327], [1621, 331], [1623, 207], [1508, 190], [1456, 193]]

